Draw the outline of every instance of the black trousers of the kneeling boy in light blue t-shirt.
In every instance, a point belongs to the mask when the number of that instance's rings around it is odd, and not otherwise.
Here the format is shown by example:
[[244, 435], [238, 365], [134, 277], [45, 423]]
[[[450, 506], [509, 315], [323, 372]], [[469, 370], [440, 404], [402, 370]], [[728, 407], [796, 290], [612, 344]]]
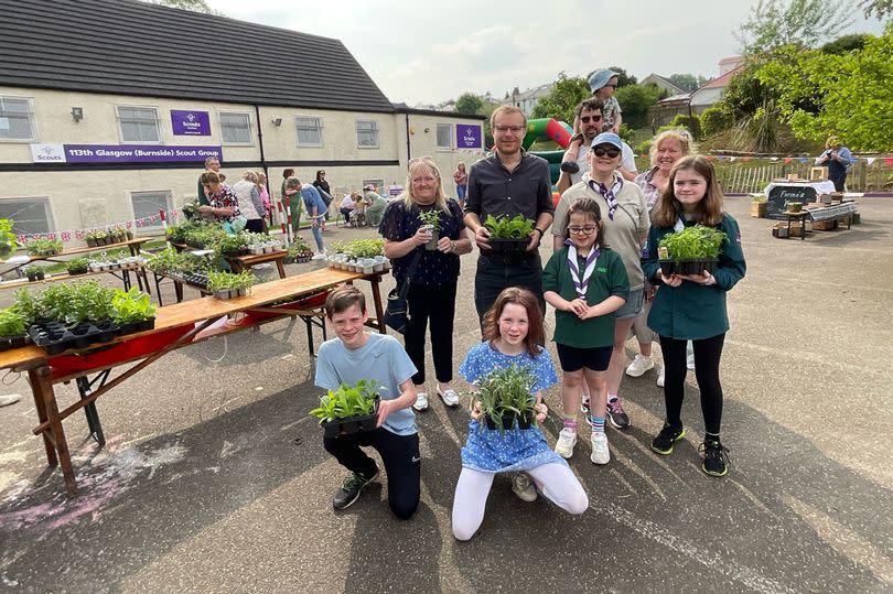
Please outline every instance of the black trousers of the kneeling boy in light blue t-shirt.
[[385, 463], [388, 475], [388, 505], [394, 515], [408, 520], [419, 507], [421, 463], [419, 434], [397, 435], [387, 429], [361, 431], [351, 435], [323, 439], [326, 452], [348, 471], [369, 476], [375, 461], [361, 446], [373, 446]]

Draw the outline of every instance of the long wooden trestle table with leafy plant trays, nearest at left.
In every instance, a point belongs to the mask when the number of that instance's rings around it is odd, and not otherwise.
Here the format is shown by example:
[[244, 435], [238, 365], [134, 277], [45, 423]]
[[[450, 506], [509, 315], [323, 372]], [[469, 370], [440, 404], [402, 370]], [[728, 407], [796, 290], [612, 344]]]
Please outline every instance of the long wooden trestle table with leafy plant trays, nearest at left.
[[[372, 285], [375, 318], [369, 325], [386, 332], [377, 273], [324, 268], [254, 287], [245, 295], [237, 291], [235, 298], [206, 296], [162, 307], [137, 289], [108, 289], [95, 281], [54, 284], [36, 294], [22, 289], [15, 304], [0, 310], [0, 346], [8, 347], [0, 352], [0, 369], [28, 374], [39, 420], [33, 433], [42, 436], [49, 465], [62, 467], [66, 490], [75, 496], [65, 419], [83, 409], [89, 433], [101, 445], [96, 399], [166, 353], [318, 310], [334, 287], [356, 280]], [[125, 364], [136, 365], [110, 378]], [[71, 380], [79, 399], [60, 410], [54, 386]]]

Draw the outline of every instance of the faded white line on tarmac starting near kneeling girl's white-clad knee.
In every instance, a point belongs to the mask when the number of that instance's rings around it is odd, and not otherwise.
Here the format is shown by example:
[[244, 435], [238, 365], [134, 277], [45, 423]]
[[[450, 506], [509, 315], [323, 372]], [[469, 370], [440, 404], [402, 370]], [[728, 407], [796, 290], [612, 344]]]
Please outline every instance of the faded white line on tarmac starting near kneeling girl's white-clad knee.
[[703, 565], [710, 570], [710, 572], [739, 582], [754, 592], [765, 594], [776, 592], [794, 593], [793, 590], [786, 587], [784, 584], [761, 575], [758, 570], [752, 570], [734, 561], [729, 561], [724, 557], [711, 552], [709, 549], [702, 549], [652, 521], [634, 516], [633, 512], [613, 501], [604, 500], [598, 506], [590, 507], [593, 507], [599, 514], [606, 515], [611, 520], [622, 523], [638, 534], [666, 547], [673, 552], [680, 553], [696, 563]]

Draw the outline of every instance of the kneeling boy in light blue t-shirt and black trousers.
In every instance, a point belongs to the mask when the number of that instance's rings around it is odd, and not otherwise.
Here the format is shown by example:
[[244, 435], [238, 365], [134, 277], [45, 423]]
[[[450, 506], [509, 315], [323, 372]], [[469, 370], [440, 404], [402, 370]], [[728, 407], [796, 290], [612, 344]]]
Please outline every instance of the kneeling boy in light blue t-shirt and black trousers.
[[345, 509], [363, 488], [378, 476], [378, 466], [363, 451], [372, 446], [381, 456], [388, 475], [388, 505], [400, 518], [409, 519], [419, 506], [419, 434], [411, 406], [416, 401], [412, 375], [416, 366], [404, 347], [388, 334], [367, 334], [366, 298], [349, 284], [332, 291], [325, 300], [325, 315], [336, 338], [320, 346], [315, 385], [336, 391], [342, 385], [365, 380], [380, 387], [377, 428], [335, 438], [323, 438], [323, 446], [351, 471], [332, 505]]

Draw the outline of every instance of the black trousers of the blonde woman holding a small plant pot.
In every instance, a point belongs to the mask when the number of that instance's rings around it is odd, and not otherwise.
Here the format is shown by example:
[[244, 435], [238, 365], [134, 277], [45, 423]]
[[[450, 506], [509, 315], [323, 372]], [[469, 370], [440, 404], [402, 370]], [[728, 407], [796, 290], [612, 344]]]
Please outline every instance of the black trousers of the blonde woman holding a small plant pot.
[[424, 384], [424, 331], [431, 324], [431, 357], [434, 376], [441, 384], [453, 379], [453, 320], [456, 283], [413, 284], [406, 295], [409, 323], [406, 328], [406, 353], [418, 371], [412, 384]]

